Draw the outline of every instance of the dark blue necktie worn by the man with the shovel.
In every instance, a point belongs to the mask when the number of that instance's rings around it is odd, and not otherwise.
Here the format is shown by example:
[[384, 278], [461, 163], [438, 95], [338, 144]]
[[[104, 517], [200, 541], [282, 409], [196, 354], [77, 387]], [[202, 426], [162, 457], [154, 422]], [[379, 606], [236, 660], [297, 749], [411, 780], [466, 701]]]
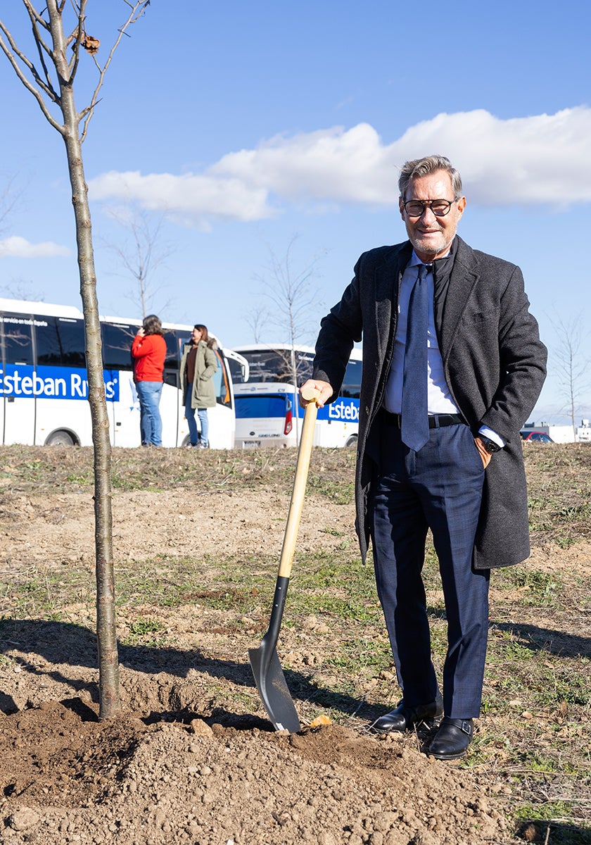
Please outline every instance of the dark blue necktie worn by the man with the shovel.
[[404, 379], [400, 429], [402, 442], [418, 452], [429, 439], [427, 415], [427, 328], [429, 319], [427, 268], [419, 264], [419, 275], [410, 292], [406, 319]]

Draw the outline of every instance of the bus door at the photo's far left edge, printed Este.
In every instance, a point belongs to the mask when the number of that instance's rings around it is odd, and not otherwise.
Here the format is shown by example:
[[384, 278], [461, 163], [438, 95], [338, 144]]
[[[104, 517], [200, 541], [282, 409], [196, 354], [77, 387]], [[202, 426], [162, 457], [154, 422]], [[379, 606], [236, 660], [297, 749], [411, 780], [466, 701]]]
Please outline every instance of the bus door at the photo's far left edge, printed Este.
[[30, 314], [0, 314], [0, 442], [35, 444]]

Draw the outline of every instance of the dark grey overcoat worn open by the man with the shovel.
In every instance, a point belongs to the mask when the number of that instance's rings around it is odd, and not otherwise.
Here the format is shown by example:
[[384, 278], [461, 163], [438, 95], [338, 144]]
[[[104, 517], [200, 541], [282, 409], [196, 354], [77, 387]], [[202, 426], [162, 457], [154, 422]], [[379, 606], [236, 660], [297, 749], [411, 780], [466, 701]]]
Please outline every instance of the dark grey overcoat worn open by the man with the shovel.
[[[409, 241], [362, 254], [353, 281], [323, 319], [317, 340], [314, 378], [333, 386], [333, 398], [354, 342], [363, 341], [355, 528], [364, 560], [369, 543], [367, 500], [375, 466], [367, 454], [367, 439], [382, 406], [400, 281], [411, 254]], [[546, 348], [529, 313], [521, 270], [470, 248], [457, 236], [452, 254], [445, 283], [438, 284], [437, 271], [434, 274], [436, 332], [447, 385], [474, 433], [486, 425], [507, 444], [492, 455], [486, 468], [474, 568], [510, 566], [529, 557], [519, 429], [544, 384]]]

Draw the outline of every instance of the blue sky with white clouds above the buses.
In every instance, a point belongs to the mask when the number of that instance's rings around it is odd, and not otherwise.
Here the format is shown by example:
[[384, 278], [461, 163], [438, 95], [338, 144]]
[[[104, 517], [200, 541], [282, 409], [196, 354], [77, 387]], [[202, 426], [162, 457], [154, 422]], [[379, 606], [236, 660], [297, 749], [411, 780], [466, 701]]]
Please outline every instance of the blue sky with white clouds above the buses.
[[[9, 6], [0, 19], [35, 58], [24, 7]], [[126, 8], [89, 0], [99, 59]], [[440, 152], [464, 177], [459, 233], [523, 269], [550, 347], [533, 418], [567, 422], [553, 323], [580, 318], [589, 357], [590, 30], [586, 0], [152, 0], [84, 142], [101, 312], [138, 315], [112, 248], [130, 243], [131, 208], [161, 221], [150, 284], [162, 319], [206, 323], [225, 346], [252, 341], [270, 255], [282, 261], [291, 243], [294, 275], [313, 264], [317, 308], [301, 335], [313, 342], [359, 254], [404, 240], [397, 167]], [[95, 78], [83, 60], [79, 108]], [[0, 193], [16, 199], [0, 223], [0, 296], [79, 307], [62, 139], [3, 54], [0, 85]], [[280, 335], [263, 324], [262, 340]], [[591, 390], [577, 416], [591, 416]]]

